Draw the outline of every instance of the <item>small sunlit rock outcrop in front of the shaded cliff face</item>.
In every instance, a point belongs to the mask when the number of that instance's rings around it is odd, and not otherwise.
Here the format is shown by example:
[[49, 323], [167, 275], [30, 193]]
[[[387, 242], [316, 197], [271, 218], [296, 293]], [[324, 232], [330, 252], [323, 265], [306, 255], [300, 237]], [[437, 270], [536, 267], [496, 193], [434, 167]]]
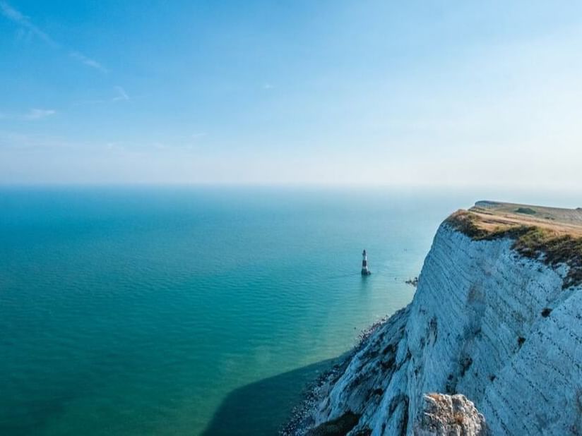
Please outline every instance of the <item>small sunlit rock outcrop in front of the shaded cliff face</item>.
[[485, 418], [464, 395], [424, 395], [415, 436], [487, 436]]

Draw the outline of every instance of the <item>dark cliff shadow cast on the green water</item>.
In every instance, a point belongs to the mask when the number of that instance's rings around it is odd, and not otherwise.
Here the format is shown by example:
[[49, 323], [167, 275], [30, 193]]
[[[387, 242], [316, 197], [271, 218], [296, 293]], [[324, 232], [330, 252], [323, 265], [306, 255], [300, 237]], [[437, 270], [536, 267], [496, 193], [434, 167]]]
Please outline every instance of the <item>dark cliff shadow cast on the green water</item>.
[[338, 363], [337, 358], [234, 389], [222, 401], [203, 436], [277, 435], [309, 383], [334, 363]]

